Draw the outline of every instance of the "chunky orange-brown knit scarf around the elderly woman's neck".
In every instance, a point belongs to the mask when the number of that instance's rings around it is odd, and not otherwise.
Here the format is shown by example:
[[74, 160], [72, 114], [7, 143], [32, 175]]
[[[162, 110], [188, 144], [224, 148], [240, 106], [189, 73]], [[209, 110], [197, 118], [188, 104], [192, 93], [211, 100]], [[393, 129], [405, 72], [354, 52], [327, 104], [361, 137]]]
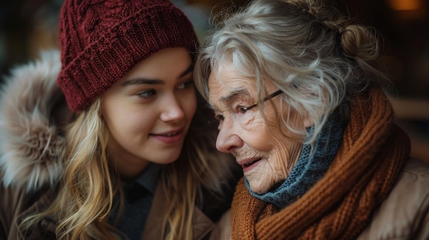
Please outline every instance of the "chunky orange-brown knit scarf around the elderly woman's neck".
[[350, 122], [325, 176], [284, 209], [250, 196], [243, 178], [232, 202], [232, 239], [356, 239], [410, 154], [378, 88], [352, 100]]

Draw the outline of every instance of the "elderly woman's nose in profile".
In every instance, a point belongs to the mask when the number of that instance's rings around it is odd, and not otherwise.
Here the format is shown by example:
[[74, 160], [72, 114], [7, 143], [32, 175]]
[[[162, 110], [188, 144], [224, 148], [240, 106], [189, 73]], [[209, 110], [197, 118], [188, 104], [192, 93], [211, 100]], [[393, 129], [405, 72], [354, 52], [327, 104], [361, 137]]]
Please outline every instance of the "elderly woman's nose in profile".
[[241, 148], [243, 146], [243, 139], [234, 133], [233, 125], [232, 121], [223, 121], [219, 125], [219, 133], [216, 139], [217, 150], [231, 153], [236, 148]]

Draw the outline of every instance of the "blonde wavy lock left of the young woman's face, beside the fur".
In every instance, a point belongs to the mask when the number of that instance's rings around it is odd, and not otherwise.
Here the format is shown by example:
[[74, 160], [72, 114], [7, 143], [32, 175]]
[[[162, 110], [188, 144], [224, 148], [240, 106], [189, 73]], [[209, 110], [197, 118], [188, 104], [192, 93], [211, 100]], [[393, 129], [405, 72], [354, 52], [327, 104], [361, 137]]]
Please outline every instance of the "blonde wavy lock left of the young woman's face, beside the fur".
[[103, 222], [112, 207], [114, 188], [100, 113], [98, 98], [67, 127], [58, 194], [45, 211], [23, 221], [24, 229], [51, 216], [58, 219], [59, 239], [115, 239]]

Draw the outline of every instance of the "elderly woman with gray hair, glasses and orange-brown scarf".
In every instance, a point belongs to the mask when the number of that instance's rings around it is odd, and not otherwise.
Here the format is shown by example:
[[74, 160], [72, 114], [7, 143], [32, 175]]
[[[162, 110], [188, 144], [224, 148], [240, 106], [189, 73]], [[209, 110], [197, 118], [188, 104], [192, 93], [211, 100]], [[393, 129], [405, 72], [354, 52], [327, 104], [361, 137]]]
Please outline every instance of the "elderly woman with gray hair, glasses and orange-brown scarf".
[[213, 29], [195, 81], [244, 172], [223, 237], [429, 239], [429, 166], [393, 122], [378, 51], [315, 0], [256, 0]]

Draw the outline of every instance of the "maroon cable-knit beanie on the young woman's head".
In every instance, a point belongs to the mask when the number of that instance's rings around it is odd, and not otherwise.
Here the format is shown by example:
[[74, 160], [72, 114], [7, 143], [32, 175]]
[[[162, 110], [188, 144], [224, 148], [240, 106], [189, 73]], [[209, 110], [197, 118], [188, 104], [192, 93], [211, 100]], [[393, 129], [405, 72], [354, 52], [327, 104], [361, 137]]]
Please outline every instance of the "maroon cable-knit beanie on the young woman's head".
[[197, 36], [167, 0], [66, 0], [59, 23], [57, 83], [73, 111], [85, 109], [138, 62], [165, 48], [195, 55]]

